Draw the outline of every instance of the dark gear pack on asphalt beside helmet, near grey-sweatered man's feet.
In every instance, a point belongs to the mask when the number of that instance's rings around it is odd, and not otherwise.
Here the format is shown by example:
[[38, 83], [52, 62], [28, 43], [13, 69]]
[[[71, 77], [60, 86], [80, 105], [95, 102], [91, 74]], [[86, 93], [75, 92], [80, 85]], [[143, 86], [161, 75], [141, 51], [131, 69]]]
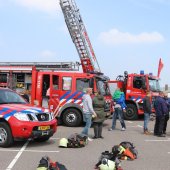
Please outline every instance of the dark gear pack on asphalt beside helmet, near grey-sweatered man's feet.
[[87, 136], [83, 134], [72, 134], [68, 137], [69, 148], [81, 148], [86, 146], [88, 143]]

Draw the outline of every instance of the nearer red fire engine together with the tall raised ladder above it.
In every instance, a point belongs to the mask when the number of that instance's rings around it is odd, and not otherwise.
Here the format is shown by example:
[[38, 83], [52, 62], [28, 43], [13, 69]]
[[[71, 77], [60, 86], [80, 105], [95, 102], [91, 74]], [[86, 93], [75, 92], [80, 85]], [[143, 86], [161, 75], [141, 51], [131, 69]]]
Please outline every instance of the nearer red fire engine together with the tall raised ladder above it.
[[[79, 10], [72, 0], [60, 0], [65, 22], [80, 57], [83, 73], [73, 63], [1, 63], [3, 85], [25, 85], [31, 89], [31, 103], [47, 106], [67, 126], [82, 123], [82, 96], [88, 87], [105, 96], [105, 111], [110, 114], [109, 78], [100, 72], [97, 59]], [[62, 71], [61, 71], [62, 70]], [[65, 71], [67, 70], [67, 72]], [[70, 72], [73, 71], [73, 72]], [[6, 74], [6, 78], [4, 78]], [[1, 79], [0, 78], [0, 79]], [[46, 92], [50, 89], [47, 99]]]

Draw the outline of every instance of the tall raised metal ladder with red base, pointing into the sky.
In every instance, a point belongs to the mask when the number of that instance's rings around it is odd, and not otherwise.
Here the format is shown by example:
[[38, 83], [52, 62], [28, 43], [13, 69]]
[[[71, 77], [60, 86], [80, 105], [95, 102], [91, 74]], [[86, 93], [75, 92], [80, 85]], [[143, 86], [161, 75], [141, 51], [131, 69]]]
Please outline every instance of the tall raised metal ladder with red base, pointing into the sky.
[[60, 0], [65, 22], [79, 54], [83, 72], [100, 72], [93, 47], [74, 0]]

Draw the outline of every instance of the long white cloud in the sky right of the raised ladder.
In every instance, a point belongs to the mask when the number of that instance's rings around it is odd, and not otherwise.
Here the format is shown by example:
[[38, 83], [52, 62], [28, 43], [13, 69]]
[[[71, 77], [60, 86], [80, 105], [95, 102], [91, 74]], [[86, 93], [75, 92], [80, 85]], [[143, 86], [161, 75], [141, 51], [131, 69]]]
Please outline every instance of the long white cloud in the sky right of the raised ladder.
[[158, 32], [143, 32], [138, 35], [133, 35], [128, 32], [120, 32], [117, 29], [112, 29], [108, 32], [102, 32], [99, 35], [99, 40], [108, 45], [114, 44], [129, 44], [129, 43], [160, 43], [164, 41], [164, 37]]

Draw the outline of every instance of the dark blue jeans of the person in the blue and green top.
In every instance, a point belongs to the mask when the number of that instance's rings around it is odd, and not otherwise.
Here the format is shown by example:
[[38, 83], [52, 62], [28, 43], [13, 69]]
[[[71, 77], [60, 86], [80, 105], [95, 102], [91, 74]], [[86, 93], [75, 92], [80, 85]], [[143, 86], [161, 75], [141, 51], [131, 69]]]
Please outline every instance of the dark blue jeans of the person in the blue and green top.
[[122, 128], [126, 128], [124, 118], [123, 118], [123, 111], [121, 108], [115, 108], [115, 112], [113, 113], [113, 118], [112, 118], [112, 129], [115, 129], [116, 127], [116, 119], [117, 117], [119, 118], [120, 124]]

